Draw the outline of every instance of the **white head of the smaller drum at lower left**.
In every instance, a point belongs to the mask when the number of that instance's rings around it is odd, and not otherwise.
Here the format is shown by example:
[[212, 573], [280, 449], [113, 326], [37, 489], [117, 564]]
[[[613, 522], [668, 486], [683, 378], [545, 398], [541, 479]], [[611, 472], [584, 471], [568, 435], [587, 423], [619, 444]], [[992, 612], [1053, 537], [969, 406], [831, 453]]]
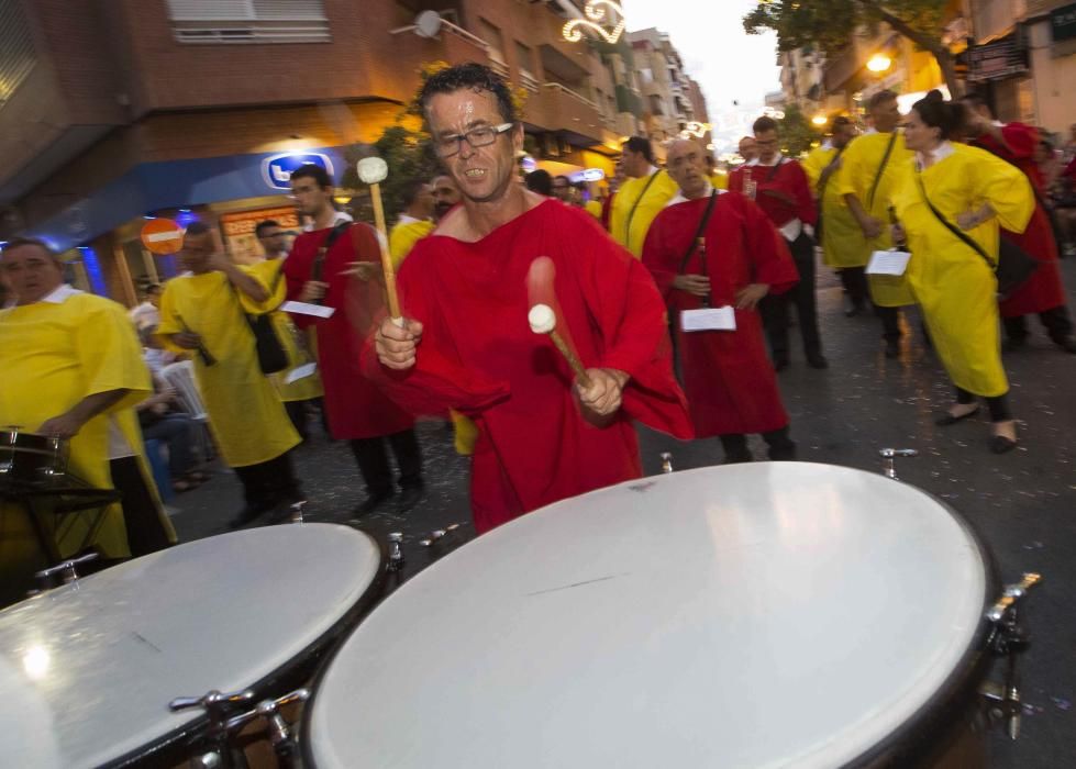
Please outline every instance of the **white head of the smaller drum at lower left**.
[[[144, 556], [0, 612], [10, 767], [97, 767], [203, 716], [168, 702], [249, 688], [333, 631], [380, 569], [347, 526], [266, 526]], [[45, 747], [48, 751], [45, 751]], [[48, 756], [52, 756], [48, 758]]]

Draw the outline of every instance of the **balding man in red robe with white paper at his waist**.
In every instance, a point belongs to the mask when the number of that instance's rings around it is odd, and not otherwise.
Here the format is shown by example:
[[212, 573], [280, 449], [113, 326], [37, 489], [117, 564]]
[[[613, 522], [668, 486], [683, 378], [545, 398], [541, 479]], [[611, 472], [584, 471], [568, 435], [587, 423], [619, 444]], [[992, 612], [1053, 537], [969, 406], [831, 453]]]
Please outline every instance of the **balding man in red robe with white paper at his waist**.
[[[668, 148], [666, 167], [680, 194], [651, 225], [643, 264], [676, 326], [695, 436], [717, 435], [726, 462], [752, 459], [746, 433], [762, 433], [770, 459], [795, 459], [755, 308], [763, 297], [795, 286], [799, 276], [762, 209], [739, 193], [714, 190], [705, 158], [695, 142], [678, 140]], [[725, 307], [734, 308], [734, 327], [684, 331], [683, 313]]]

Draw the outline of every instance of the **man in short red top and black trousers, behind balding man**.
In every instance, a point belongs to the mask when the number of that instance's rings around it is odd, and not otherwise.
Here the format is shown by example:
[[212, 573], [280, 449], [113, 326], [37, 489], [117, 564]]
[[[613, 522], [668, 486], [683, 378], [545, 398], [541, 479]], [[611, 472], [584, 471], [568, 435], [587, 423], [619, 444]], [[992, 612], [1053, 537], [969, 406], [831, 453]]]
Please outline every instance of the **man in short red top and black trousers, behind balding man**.
[[745, 194], [766, 212], [791, 252], [799, 282], [784, 294], [773, 294], [759, 305], [774, 368], [788, 366], [788, 304], [796, 307], [803, 355], [811, 368], [828, 368], [822, 355], [814, 297], [814, 238], [810, 227], [818, 220], [811, 182], [803, 167], [781, 155], [777, 122], [762, 116], [754, 122], [757, 157], [729, 175], [729, 191]]

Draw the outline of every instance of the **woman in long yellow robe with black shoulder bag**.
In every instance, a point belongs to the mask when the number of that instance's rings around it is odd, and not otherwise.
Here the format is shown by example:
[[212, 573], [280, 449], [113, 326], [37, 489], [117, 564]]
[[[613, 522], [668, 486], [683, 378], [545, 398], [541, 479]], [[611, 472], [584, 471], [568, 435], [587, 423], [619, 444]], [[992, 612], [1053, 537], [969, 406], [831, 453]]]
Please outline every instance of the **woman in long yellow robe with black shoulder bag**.
[[[961, 102], [943, 101], [938, 91], [912, 107], [905, 137], [916, 158], [902, 166], [894, 190], [900, 222], [895, 237], [907, 236], [908, 282], [922, 307], [934, 349], [956, 386], [956, 402], [938, 424], [973, 416], [979, 410], [976, 397], [981, 397], [992, 423], [990, 450], [1003, 454], [1016, 447], [1017, 432], [1006, 398], [1009, 382], [1001, 367], [992, 265], [998, 259], [999, 225], [1022, 232], [1035, 198], [1016, 166], [951, 142], [958, 137], [963, 109]], [[956, 232], [978, 244], [992, 264]]]

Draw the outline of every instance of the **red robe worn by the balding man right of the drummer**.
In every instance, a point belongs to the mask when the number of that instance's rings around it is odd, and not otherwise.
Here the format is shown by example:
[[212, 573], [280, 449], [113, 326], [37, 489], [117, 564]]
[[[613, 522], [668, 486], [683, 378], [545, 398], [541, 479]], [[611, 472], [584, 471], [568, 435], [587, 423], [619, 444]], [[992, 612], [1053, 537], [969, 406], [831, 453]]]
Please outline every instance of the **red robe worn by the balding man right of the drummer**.
[[[699, 297], [674, 289], [673, 278], [680, 270], [707, 202], [701, 198], [669, 205], [646, 235], [643, 264], [665, 296], [670, 317], [702, 307]], [[799, 280], [785, 239], [762, 209], [741, 194], [718, 194], [707, 223], [706, 245], [710, 307], [734, 304], [736, 291], [748, 283], [766, 283], [773, 293], [780, 293]], [[701, 261], [696, 248], [684, 271], [701, 274]], [[788, 424], [758, 312], [735, 312], [736, 330], [731, 332], [684, 333], [676, 323], [676, 345], [696, 437], [765, 433]]]

